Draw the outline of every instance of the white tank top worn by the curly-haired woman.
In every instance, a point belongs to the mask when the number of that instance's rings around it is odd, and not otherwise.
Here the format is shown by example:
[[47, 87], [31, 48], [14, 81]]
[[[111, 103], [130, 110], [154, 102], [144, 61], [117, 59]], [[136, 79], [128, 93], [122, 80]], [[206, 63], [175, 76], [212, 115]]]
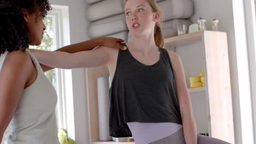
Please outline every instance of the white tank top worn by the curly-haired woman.
[[[37, 59], [26, 49], [37, 70], [37, 78], [24, 89], [10, 121], [6, 144], [57, 144], [56, 91], [44, 75]], [[0, 56], [0, 70], [8, 51]]]

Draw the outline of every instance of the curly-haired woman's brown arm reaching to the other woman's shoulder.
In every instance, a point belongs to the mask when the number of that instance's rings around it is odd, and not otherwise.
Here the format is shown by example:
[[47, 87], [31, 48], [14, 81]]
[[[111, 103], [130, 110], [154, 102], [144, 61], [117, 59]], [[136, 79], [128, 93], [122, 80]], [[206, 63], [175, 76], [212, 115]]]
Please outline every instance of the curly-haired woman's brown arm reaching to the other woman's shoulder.
[[[56, 51], [64, 51], [68, 53], [75, 53], [79, 51], [88, 51], [92, 50], [97, 46], [107, 46], [107, 47], [116, 47], [118, 49], [125, 50], [125, 46], [120, 45], [119, 43], [124, 42], [123, 39], [117, 38], [110, 38], [110, 37], [102, 37], [102, 38], [95, 38], [88, 41], [83, 41], [82, 43], [77, 43], [73, 45], [68, 45], [57, 49]], [[53, 68], [48, 67], [46, 65], [40, 64], [43, 71], [48, 71]]]

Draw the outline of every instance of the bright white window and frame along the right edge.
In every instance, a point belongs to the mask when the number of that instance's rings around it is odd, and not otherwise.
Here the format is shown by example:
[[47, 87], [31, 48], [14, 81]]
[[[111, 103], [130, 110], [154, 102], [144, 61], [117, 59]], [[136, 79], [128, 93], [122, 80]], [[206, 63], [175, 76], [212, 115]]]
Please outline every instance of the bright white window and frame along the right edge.
[[241, 120], [241, 126], [239, 126], [241, 127], [241, 136], [238, 139], [241, 139], [240, 143], [256, 143], [256, 19], [254, 0], [234, 2], [233, 11], [235, 34], [237, 33], [235, 37], [241, 115], [241, 119], [239, 119], [239, 121]]

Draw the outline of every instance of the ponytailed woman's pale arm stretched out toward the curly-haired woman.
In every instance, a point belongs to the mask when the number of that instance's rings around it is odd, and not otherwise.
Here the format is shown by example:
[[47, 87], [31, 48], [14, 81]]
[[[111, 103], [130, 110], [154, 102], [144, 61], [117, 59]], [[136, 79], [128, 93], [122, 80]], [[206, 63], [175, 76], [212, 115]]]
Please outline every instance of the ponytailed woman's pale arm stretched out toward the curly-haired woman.
[[109, 47], [100, 46], [91, 51], [67, 53], [62, 51], [30, 50], [39, 63], [48, 67], [72, 69], [106, 65], [110, 59]]

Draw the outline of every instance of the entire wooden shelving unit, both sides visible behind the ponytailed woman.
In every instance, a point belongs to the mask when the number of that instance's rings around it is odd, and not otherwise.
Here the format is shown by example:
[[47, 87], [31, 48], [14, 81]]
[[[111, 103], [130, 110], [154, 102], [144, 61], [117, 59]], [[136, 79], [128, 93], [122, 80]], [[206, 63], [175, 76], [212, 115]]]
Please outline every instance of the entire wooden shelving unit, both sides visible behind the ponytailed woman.
[[[189, 92], [205, 92], [208, 105], [207, 116], [210, 136], [235, 143], [226, 33], [200, 31], [165, 39], [166, 49], [170, 50], [187, 45], [188, 49], [190, 49], [189, 45], [194, 43], [201, 43], [202, 46], [202, 57], [205, 66], [205, 87], [189, 88]], [[86, 69], [90, 143], [134, 144], [134, 142], [99, 142], [97, 77], [106, 75], [109, 75], [107, 67]]]

